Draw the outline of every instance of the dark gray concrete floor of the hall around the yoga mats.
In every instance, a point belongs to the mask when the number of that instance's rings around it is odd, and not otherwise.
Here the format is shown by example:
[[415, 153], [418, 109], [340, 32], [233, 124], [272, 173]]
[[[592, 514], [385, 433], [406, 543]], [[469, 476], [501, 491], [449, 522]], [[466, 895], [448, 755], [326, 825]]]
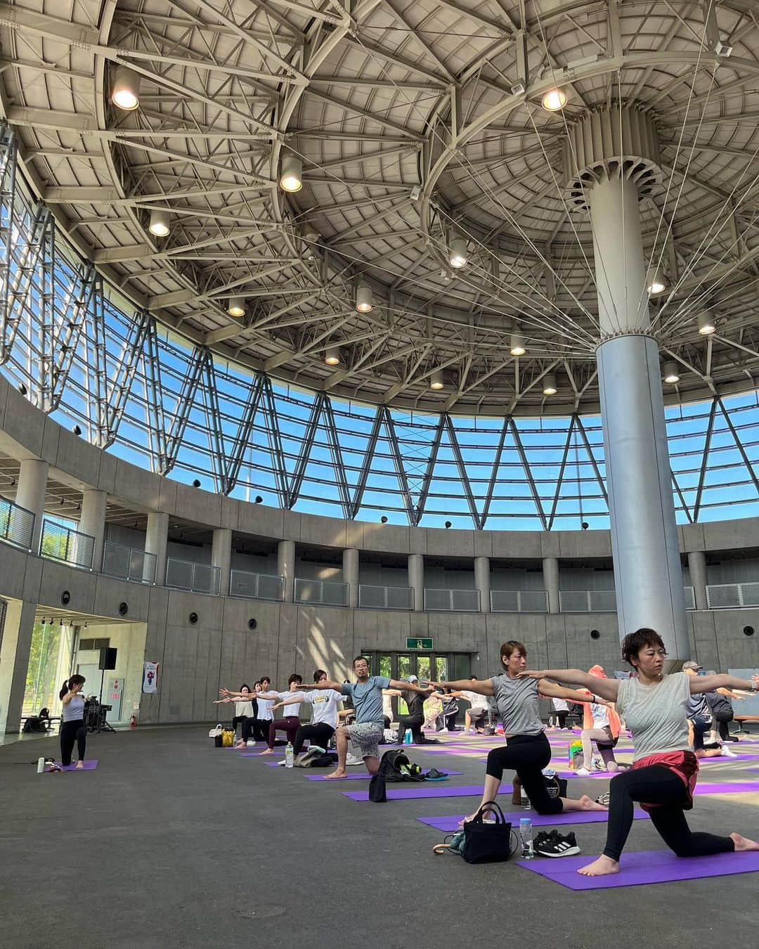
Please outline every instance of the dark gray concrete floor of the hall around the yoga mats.
[[[207, 732], [90, 736], [87, 757], [100, 766], [73, 774], [35, 772], [40, 754], [57, 754], [56, 739], [0, 748], [4, 949], [242, 949], [302, 940], [361, 949], [435, 940], [704, 949], [715, 934], [731, 946], [755, 941], [755, 874], [573, 893], [516, 865], [434, 856], [443, 834], [416, 818], [461, 813], [469, 799], [356, 803], [340, 791], [366, 782], [307, 781], [309, 772], [216, 750]], [[411, 756], [464, 772], [456, 784], [480, 783], [484, 772], [472, 757]], [[759, 780], [749, 770], [757, 766], [711, 764], [702, 780]], [[575, 780], [594, 795], [605, 785]], [[691, 823], [756, 837], [758, 803], [753, 794], [702, 796]], [[583, 853], [600, 851], [604, 828], [575, 828]], [[661, 847], [648, 822], [636, 821], [629, 849]]]

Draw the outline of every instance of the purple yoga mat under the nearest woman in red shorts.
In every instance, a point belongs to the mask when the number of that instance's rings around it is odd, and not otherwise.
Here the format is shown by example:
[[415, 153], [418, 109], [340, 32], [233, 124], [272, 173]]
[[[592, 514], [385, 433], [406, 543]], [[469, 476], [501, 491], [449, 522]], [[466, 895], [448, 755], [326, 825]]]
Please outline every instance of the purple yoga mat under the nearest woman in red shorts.
[[676, 880], [725, 877], [731, 873], [753, 873], [759, 870], [757, 852], [676, 857], [669, 850], [641, 850], [639, 853], [622, 854], [619, 873], [606, 877], [583, 877], [577, 872], [581, 866], [592, 861], [593, 857], [563, 857], [561, 860], [518, 860], [517, 864], [573, 890], [666, 884]]

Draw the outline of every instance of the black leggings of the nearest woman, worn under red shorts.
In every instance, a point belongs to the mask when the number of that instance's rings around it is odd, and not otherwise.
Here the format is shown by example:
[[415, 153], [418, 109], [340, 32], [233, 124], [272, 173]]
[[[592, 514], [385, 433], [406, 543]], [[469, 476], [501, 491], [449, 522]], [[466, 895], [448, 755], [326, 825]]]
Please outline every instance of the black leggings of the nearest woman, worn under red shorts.
[[609, 782], [609, 823], [603, 854], [619, 860], [633, 826], [634, 801], [657, 804], [650, 817], [658, 834], [678, 857], [707, 857], [735, 849], [730, 837], [694, 833], [688, 827], [683, 807], [687, 802], [682, 778], [664, 765], [649, 765], [618, 774]]

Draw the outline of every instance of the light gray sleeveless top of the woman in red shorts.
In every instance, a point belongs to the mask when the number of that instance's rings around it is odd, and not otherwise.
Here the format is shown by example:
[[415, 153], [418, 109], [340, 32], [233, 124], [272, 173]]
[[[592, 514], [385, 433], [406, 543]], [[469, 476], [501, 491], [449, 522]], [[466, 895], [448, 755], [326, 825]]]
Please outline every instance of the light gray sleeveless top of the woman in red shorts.
[[633, 735], [634, 761], [649, 754], [687, 752], [691, 678], [684, 672], [665, 676], [655, 685], [620, 679], [617, 711]]

